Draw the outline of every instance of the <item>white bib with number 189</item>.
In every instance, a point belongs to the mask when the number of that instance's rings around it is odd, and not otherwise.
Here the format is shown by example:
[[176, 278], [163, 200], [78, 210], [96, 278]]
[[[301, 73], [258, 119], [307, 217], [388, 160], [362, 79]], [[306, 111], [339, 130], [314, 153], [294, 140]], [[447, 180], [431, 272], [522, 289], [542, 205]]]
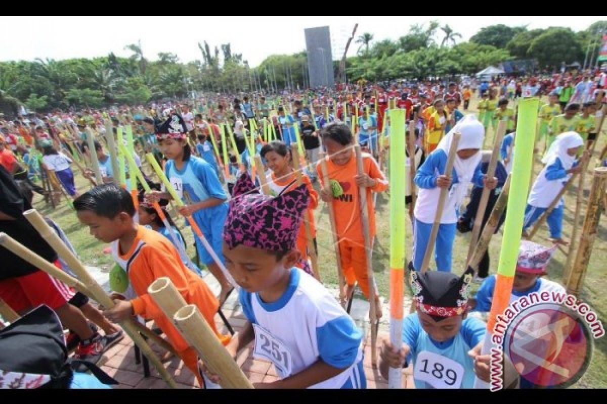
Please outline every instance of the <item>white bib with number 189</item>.
[[426, 382], [433, 388], [460, 388], [464, 366], [442, 355], [422, 351], [415, 360], [413, 379]]

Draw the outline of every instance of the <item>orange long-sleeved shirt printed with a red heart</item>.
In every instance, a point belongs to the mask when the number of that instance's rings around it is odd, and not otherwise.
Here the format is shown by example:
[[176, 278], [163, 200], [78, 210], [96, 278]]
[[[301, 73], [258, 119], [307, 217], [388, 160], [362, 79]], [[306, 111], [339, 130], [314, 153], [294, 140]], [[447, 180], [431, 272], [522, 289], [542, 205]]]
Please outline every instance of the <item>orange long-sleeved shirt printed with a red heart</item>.
[[[367, 211], [369, 216], [369, 231], [371, 239], [375, 237], [375, 209], [373, 207], [373, 197], [371, 191], [382, 192], [388, 189], [388, 180], [384, 173], [379, 170], [375, 159], [368, 153], [362, 153], [363, 171], [371, 178], [377, 180], [375, 187], [367, 187]], [[320, 178], [320, 184], [325, 187], [320, 163], [316, 165], [316, 171]], [[339, 239], [348, 239], [353, 242], [360, 242], [364, 245], [364, 234], [362, 233], [361, 208], [359, 202], [358, 185], [356, 185], [356, 156], [352, 151], [352, 157], [344, 165], [334, 164], [331, 159], [327, 161], [328, 176], [332, 180], [337, 180], [344, 193], [339, 197], [333, 197], [333, 211], [335, 213], [335, 225]]]

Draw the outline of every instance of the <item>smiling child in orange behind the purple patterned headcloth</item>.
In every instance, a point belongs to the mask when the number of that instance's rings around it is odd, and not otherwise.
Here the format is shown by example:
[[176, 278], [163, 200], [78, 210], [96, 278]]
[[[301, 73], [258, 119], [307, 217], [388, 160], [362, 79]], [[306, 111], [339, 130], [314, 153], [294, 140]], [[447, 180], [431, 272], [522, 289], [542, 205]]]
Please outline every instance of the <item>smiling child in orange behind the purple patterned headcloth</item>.
[[[268, 178], [268, 187], [270, 187], [270, 194], [272, 196], [278, 196], [297, 187], [297, 176], [292, 167], [293, 154], [291, 153], [291, 150], [287, 148], [287, 145], [282, 141], [272, 141], [262, 147], [260, 156], [266, 159], [268, 168], [272, 171]], [[318, 206], [318, 193], [312, 187], [310, 177], [305, 173], [302, 173], [302, 179], [308, 189], [308, 193], [310, 193], [307, 220], [310, 223], [310, 236], [313, 239], [314, 248], [316, 248], [316, 220], [314, 220], [314, 209]], [[297, 267], [312, 274], [306, 259], [308, 257], [308, 238], [304, 226], [301, 226], [299, 228], [299, 233], [297, 233], [297, 250], [299, 250], [304, 258]]]

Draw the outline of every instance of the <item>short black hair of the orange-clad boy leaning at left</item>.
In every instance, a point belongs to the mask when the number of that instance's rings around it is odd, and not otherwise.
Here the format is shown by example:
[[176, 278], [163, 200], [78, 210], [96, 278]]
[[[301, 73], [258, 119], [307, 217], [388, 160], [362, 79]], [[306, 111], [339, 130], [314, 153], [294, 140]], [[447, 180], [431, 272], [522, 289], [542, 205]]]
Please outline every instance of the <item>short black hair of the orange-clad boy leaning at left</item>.
[[125, 212], [135, 216], [135, 205], [129, 191], [113, 182], [97, 185], [90, 191], [83, 193], [73, 201], [76, 212], [92, 211], [97, 216], [114, 219], [118, 214]]

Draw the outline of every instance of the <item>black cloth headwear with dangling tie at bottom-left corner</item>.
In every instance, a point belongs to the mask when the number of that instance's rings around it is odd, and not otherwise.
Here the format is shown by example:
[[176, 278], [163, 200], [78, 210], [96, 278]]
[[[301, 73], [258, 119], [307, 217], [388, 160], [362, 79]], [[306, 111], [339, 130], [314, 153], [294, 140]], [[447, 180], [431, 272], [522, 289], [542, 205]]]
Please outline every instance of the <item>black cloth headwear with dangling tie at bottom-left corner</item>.
[[71, 363], [84, 363], [101, 383], [118, 384], [97, 365], [67, 358], [63, 327], [46, 305], [0, 330], [0, 389], [70, 388]]

